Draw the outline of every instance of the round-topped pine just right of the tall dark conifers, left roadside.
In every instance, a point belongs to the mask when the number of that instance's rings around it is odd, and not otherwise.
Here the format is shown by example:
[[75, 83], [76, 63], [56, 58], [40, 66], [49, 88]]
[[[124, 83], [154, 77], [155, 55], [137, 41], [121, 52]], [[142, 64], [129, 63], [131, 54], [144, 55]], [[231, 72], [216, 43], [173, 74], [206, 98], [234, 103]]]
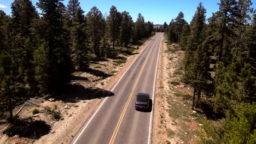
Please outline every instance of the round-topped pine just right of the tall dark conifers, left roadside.
[[97, 57], [101, 57], [100, 41], [105, 34], [106, 22], [100, 10], [97, 7], [92, 7], [88, 17], [88, 31], [91, 37], [91, 43], [94, 53]]

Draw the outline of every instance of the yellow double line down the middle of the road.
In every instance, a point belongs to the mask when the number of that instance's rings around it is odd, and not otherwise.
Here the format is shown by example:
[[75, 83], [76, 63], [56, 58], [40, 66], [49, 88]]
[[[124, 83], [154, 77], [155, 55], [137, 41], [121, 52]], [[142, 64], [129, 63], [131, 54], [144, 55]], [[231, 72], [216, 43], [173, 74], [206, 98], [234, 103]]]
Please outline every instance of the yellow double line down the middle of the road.
[[[156, 40], [155, 40], [155, 41], [156, 41]], [[154, 45], [155, 45], [155, 42], [154, 42], [154, 44], [153, 44], [153, 47], [154, 47]], [[146, 47], [145, 47], [145, 48], [146, 48]], [[139, 71], [139, 75], [138, 75], [138, 77], [137, 77], [137, 79], [136, 79], [135, 85], [134, 85], [133, 88], [132, 88], [132, 91], [131, 91], [131, 93], [130, 93], [130, 96], [129, 96], [129, 98], [128, 98], [126, 104], [125, 104], [124, 110], [123, 110], [123, 112], [122, 112], [122, 114], [121, 114], [121, 117], [119, 118], [119, 121], [118, 121], [117, 126], [115, 127], [114, 133], [113, 133], [113, 135], [112, 135], [112, 137], [111, 137], [111, 139], [110, 139], [110, 141], [109, 141], [109, 144], [113, 144], [113, 143], [114, 143], [115, 137], [117, 136], [118, 130], [119, 130], [120, 125], [121, 125], [121, 123], [122, 123], [122, 121], [123, 121], [123, 118], [124, 118], [125, 112], [126, 112], [126, 110], [127, 110], [127, 107], [128, 107], [128, 105], [129, 105], [129, 103], [130, 103], [130, 101], [131, 101], [133, 92], [135, 91], [135, 88], [136, 88], [136, 86], [137, 86], [137, 83], [138, 83], [138, 81], [139, 81], [139, 78], [141, 77], [142, 71], [143, 71], [143, 69], [144, 69], [144, 67], [145, 67], [145, 65], [146, 65], [146, 63], [147, 63], [147, 61], [148, 61], [148, 57], [149, 57], [149, 55], [150, 55], [150, 53], [152, 52], [153, 49], [154, 49], [154, 48], [152, 48], [152, 49], [149, 51], [148, 56], [147, 56], [147, 58], [146, 58], [146, 60], [145, 60], [145, 62], [144, 62], [144, 64], [143, 64], [143, 66], [142, 66], [142, 69], [141, 69], [141, 71]]]

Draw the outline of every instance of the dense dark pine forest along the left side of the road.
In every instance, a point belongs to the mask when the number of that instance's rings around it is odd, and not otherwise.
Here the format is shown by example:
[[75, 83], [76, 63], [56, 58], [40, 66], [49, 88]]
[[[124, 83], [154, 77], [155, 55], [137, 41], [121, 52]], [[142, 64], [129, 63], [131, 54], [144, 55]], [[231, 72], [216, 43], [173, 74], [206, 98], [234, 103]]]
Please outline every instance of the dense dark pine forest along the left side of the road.
[[[40, 10], [38, 13], [37, 9]], [[78, 0], [15, 0], [11, 15], [0, 10], [0, 109], [14, 123], [13, 109], [30, 97], [61, 94], [72, 73], [86, 71], [102, 58], [118, 59], [118, 47], [148, 38], [153, 22], [141, 13], [133, 21], [128, 11], [112, 5], [109, 15], [97, 7], [87, 14]]]

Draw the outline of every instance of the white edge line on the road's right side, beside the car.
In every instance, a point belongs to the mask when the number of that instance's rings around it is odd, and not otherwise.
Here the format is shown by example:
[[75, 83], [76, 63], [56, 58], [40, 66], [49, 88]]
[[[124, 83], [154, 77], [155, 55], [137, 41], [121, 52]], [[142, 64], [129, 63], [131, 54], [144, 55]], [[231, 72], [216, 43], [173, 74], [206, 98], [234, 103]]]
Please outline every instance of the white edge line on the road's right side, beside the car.
[[[159, 52], [158, 52], [158, 60], [159, 60], [159, 55], [160, 55], [160, 50], [161, 50], [161, 44], [162, 44], [162, 34], [161, 34], [161, 40], [160, 40], [160, 48], [159, 48]], [[154, 111], [154, 106], [153, 106], [153, 103], [154, 103], [154, 97], [155, 97], [155, 82], [156, 82], [156, 77], [157, 77], [157, 74], [158, 74], [158, 61], [156, 62], [156, 68], [155, 68], [155, 78], [154, 78], [154, 87], [153, 87], [153, 97], [152, 97], [152, 111], [150, 113], [150, 122], [149, 122], [149, 131], [148, 131], [148, 144], [151, 143], [151, 130], [152, 130], [152, 121], [153, 121], [153, 111]]]

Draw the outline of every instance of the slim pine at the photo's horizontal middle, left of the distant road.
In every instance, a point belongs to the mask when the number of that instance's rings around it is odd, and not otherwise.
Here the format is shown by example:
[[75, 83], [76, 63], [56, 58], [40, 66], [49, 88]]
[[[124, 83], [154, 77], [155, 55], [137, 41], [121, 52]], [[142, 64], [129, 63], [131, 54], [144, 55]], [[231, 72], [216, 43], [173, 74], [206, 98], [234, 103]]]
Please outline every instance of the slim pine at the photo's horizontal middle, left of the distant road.
[[124, 11], [122, 13], [122, 22], [121, 22], [121, 27], [120, 27], [120, 45], [122, 46], [124, 43], [124, 46], [127, 47], [131, 35], [132, 35], [132, 17], [129, 15], [127, 11]]

